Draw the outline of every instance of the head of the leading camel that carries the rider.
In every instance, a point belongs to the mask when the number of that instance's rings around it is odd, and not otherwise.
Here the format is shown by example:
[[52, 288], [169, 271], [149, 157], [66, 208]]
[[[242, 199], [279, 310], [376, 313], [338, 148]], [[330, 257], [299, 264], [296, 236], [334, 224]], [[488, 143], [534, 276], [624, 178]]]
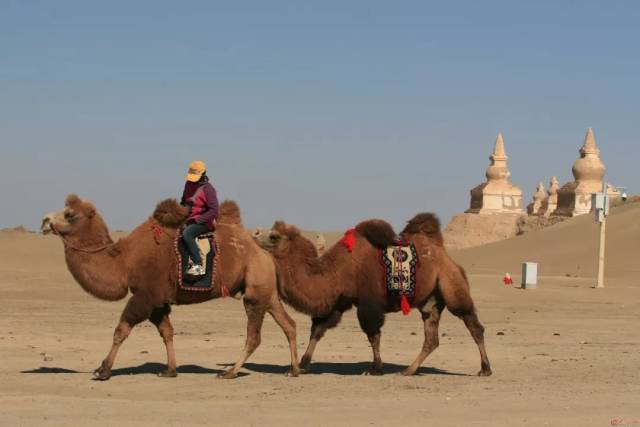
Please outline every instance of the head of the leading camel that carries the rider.
[[96, 208], [89, 202], [71, 194], [64, 209], [51, 212], [42, 219], [40, 230], [44, 234], [72, 235], [89, 227], [96, 217]]

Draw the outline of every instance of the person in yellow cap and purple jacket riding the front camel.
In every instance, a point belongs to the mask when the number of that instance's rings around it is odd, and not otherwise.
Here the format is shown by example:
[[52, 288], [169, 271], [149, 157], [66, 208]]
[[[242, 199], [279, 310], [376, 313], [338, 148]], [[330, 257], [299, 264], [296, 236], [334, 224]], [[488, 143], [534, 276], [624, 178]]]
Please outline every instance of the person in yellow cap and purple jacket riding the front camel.
[[180, 204], [190, 209], [187, 227], [182, 232], [182, 241], [192, 261], [187, 274], [203, 276], [206, 270], [196, 237], [215, 229], [218, 219], [218, 196], [209, 182], [204, 162], [200, 160], [191, 162], [186, 180]]

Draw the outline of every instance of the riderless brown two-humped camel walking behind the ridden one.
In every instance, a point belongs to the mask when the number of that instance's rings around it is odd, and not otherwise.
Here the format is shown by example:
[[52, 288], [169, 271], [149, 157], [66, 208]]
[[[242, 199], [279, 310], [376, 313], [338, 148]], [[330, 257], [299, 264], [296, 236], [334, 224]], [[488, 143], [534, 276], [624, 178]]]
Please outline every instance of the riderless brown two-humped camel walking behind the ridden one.
[[[478, 345], [480, 376], [491, 375], [484, 346], [484, 327], [471, 299], [464, 270], [444, 249], [440, 223], [432, 214], [418, 214], [405, 227], [402, 237], [416, 245], [420, 266], [412, 307], [420, 310], [424, 322], [424, 344], [403, 375], [413, 375], [426, 357], [438, 347], [438, 323], [446, 306], [461, 318]], [[373, 349], [370, 374], [382, 374], [380, 336], [385, 313], [400, 310], [400, 299], [386, 295], [380, 252], [395, 240], [392, 227], [382, 220], [369, 220], [355, 228], [355, 245], [349, 252], [336, 243], [323, 256], [304, 238], [298, 228], [276, 222], [271, 231], [254, 235], [260, 246], [270, 251], [278, 264], [280, 294], [296, 310], [312, 318], [311, 338], [300, 362], [308, 371], [316, 344], [342, 313], [357, 306], [360, 327]]]

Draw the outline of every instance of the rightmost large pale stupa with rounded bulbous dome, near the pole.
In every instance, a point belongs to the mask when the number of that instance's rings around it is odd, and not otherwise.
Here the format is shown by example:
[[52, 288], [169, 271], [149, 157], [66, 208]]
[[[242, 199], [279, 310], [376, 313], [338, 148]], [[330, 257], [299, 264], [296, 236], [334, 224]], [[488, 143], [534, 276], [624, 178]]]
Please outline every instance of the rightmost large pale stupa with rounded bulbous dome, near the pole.
[[[575, 181], [558, 190], [558, 208], [554, 215], [578, 216], [591, 211], [591, 195], [602, 191], [602, 180], [607, 168], [600, 160], [600, 150], [596, 145], [593, 129], [587, 129], [584, 144], [580, 148], [580, 158], [573, 164]], [[619, 198], [620, 193], [609, 186], [611, 198]]]

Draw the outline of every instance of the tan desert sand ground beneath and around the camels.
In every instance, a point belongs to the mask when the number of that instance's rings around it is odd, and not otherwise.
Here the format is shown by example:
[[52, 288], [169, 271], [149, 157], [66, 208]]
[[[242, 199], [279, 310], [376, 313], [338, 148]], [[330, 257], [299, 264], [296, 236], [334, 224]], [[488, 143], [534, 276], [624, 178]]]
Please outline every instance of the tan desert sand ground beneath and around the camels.
[[[409, 215], [407, 215], [409, 216]], [[150, 324], [134, 329], [114, 376], [93, 381], [124, 301], [103, 302], [67, 272], [55, 236], [0, 233], [1, 425], [640, 425], [640, 204], [608, 223], [606, 289], [593, 289], [597, 225], [591, 215], [454, 252], [467, 268], [493, 376], [476, 377], [477, 348], [446, 313], [440, 347], [419, 375], [395, 375], [422, 344], [420, 316], [392, 314], [383, 329], [386, 375], [364, 376], [370, 349], [355, 313], [327, 333], [313, 372], [288, 378], [288, 350], [272, 319], [236, 380], [216, 373], [244, 343], [239, 301], [174, 307], [179, 376], [155, 376], [164, 346]], [[327, 240], [330, 240], [329, 238]], [[335, 240], [335, 239], [332, 239]], [[539, 262], [539, 289], [519, 283]], [[300, 351], [310, 321], [298, 325]]]

